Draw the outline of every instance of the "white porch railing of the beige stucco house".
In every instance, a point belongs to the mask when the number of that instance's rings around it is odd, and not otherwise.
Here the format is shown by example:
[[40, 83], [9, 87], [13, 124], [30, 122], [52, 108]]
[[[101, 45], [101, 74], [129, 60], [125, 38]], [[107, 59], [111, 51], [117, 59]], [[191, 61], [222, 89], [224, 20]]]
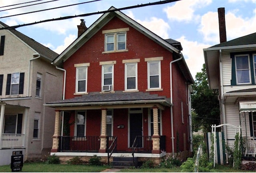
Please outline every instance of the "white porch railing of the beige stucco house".
[[2, 148], [24, 147], [24, 134], [2, 133], [0, 144]]

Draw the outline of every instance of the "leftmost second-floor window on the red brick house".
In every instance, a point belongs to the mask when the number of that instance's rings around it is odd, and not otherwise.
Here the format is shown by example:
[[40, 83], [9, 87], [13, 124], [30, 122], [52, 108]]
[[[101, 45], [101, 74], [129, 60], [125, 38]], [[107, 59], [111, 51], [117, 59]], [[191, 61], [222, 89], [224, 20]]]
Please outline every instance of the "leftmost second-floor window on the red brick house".
[[76, 92], [87, 92], [87, 67], [76, 68]]

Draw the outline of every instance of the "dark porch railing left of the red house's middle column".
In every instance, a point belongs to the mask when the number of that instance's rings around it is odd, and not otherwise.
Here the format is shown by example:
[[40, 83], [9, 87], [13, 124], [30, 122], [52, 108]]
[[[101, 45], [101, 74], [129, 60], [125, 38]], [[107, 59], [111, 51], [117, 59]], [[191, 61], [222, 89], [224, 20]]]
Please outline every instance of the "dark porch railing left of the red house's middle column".
[[87, 151], [98, 152], [100, 138], [98, 136], [60, 136], [58, 152]]

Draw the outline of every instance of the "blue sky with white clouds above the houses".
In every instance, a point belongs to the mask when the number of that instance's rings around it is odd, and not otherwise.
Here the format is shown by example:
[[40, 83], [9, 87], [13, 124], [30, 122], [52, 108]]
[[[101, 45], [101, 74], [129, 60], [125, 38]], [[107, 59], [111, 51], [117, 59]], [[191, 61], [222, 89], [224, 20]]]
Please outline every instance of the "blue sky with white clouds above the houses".
[[[0, 21], [9, 26], [27, 24], [108, 10], [111, 6], [123, 8], [160, 0], [41, 0], [27, 4], [3, 7], [33, 0], [0, 0]], [[15, 8], [48, 2], [34, 6]], [[79, 4], [31, 14], [11, 16], [59, 6]], [[172, 38], [182, 45], [182, 54], [190, 73], [195, 79], [204, 64], [203, 49], [220, 43], [218, 8], [225, 8], [227, 41], [256, 32], [256, 0], [179, 0], [167, 4], [122, 10], [124, 14], [148, 28], [163, 39]], [[4, 11], [1, 11], [4, 10]], [[62, 53], [76, 38], [77, 25], [84, 19], [86, 26], [92, 25], [102, 14], [77, 17], [67, 20], [44, 22], [23, 26], [16, 30], [36, 40], [51, 50]], [[4, 16], [11, 16], [3, 18]]]

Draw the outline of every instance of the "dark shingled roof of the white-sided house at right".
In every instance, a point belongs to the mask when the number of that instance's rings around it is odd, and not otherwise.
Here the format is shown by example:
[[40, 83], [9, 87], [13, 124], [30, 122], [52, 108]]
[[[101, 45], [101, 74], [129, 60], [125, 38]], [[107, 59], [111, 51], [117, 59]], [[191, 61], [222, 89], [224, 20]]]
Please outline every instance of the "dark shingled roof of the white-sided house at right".
[[216, 44], [210, 48], [219, 48], [219, 47], [227, 47], [227, 46], [240, 46], [240, 45], [250, 45], [256, 44], [256, 32], [249, 34], [247, 36], [242, 36], [228, 42], [223, 42], [220, 44]]

